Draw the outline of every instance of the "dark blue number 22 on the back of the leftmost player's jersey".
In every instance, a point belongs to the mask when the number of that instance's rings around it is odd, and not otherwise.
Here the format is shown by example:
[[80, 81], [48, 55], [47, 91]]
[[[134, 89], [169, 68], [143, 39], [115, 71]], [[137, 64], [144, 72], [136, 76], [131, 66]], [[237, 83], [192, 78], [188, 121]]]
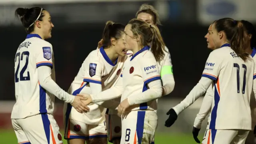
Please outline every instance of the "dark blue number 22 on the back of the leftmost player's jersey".
[[23, 68], [20, 70], [20, 81], [30, 80], [29, 72], [27, 73], [28, 76], [23, 76], [25, 70], [28, 68], [29, 52], [28, 51], [22, 52], [21, 55], [20, 55], [20, 52], [18, 52], [15, 56], [15, 62], [17, 61], [17, 57], [18, 57], [19, 63], [18, 63], [17, 69], [15, 71], [15, 82], [19, 82], [18, 72], [19, 72], [19, 68], [20, 68], [20, 60], [23, 60], [25, 58], [26, 58], [26, 63], [23, 66]]

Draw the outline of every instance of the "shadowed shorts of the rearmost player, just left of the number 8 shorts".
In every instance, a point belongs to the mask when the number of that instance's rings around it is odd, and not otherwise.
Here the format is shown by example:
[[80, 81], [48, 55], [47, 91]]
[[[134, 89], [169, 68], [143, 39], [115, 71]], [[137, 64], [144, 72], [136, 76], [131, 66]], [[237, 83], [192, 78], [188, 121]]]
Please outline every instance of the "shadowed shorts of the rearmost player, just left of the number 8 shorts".
[[122, 120], [119, 116], [108, 114], [108, 141], [121, 139]]

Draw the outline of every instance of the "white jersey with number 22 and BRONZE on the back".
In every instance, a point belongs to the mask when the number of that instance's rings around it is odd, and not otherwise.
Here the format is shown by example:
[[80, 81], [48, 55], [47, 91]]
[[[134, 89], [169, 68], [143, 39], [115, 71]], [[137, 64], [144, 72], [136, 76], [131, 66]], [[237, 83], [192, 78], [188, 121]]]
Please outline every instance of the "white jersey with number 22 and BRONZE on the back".
[[52, 68], [55, 81], [52, 44], [38, 34], [28, 34], [15, 56], [15, 98], [12, 119], [26, 118], [40, 113], [52, 114], [55, 96], [42, 88], [38, 81], [39, 66]]

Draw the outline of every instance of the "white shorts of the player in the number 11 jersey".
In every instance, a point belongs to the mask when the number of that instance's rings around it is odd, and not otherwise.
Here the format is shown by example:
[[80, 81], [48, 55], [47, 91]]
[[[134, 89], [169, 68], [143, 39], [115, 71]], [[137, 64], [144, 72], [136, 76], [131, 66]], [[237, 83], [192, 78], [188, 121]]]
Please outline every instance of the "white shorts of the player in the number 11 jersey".
[[202, 144], [244, 144], [249, 130], [206, 129]]

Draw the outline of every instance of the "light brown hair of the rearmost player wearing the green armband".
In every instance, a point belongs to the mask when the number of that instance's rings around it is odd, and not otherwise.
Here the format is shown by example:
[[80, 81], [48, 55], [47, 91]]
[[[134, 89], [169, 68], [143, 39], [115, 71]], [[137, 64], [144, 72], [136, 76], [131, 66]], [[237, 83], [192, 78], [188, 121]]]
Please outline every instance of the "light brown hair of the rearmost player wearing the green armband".
[[157, 25], [161, 25], [161, 22], [159, 20], [159, 15], [158, 12], [156, 11], [156, 9], [149, 4], [142, 4], [140, 6], [140, 9], [138, 10], [138, 12], [136, 13], [136, 18], [138, 17], [138, 14], [145, 12], [147, 14], [150, 14], [153, 16], [153, 23], [157, 24]]

